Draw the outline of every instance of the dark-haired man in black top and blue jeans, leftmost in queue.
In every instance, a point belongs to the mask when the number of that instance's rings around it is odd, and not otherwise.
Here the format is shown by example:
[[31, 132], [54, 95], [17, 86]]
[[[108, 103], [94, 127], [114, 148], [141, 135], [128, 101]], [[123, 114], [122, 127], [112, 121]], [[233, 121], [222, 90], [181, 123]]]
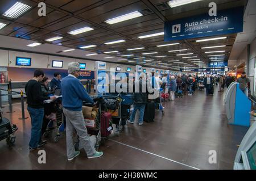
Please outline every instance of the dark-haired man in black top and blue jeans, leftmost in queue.
[[27, 110], [31, 117], [31, 138], [30, 150], [41, 148], [46, 142], [41, 141], [41, 129], [44, 117], [44, 100], [56, 99], [55, 96], [43, 96], [41, 85], [44, 72], [40, 69], [35, 70], [34, 77], [26, 83], [25, 91], [27, 95]]

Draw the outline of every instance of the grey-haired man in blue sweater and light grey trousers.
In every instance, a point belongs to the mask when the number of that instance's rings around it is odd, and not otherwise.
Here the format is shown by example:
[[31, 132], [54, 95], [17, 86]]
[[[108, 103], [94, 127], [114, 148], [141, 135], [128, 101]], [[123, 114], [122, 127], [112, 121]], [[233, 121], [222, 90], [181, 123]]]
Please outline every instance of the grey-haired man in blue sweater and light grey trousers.
[[101, 157], [103, 153], [96, 151], [89, 140], [82, 115], [82, 101], [93, 104], [92, 98], [86, 92], [82, 83], [77, 79], [81, 70], [78, 62], [68, 64], [68, 76], [61, 81], [62, 103], [64, 115], [66, 116], [66, 138], [68, 161], [77, 157], [80, 151], [75, 151], [73, 144], [73, 132], [76, 130], [80, 138], [80, 146], [84, 148], [88, 158]]

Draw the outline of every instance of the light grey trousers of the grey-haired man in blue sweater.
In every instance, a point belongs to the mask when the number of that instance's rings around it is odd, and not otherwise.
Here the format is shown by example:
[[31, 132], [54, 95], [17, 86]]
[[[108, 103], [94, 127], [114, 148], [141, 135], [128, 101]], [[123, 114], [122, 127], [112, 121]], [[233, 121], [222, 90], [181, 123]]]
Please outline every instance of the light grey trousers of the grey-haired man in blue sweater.
[[94, 155], [96, 150], [94, 149], [94, 145], [89, 139], [82, 111], [69, 111], [64, 108], [63, 112], [66, 116], [66, 139], [68, 158], [72, 158], [75, 153], [75, 146], [73, 144], [74, 130], [76, 130], [77, 134], [79, 135], [79, 145], [84, 148], [87, 156], [91, 157], [92, 155]]

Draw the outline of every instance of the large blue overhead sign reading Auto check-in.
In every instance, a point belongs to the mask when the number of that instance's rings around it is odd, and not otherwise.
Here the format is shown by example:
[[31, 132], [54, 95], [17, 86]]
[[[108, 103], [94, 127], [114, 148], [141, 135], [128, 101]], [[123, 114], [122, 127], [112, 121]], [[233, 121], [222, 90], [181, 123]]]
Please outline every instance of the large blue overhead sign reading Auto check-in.
[[201, 14], [164, 23], [164, 41], [225, 35], [243, 31], [243, 7]]

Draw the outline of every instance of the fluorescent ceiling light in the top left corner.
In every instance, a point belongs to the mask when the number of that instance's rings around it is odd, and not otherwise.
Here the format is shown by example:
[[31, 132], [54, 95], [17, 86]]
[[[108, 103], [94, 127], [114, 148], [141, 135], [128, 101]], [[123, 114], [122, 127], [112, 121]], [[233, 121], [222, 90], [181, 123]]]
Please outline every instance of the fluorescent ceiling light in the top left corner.
[[9, 18], [18, 18], [20, 15], [22, 15], [27, 10], [31, 9], [31, 6], [25, 5], [21, 2], [16, 2], [11, 8], [3, 14], [3, 16], [9, 17]]

